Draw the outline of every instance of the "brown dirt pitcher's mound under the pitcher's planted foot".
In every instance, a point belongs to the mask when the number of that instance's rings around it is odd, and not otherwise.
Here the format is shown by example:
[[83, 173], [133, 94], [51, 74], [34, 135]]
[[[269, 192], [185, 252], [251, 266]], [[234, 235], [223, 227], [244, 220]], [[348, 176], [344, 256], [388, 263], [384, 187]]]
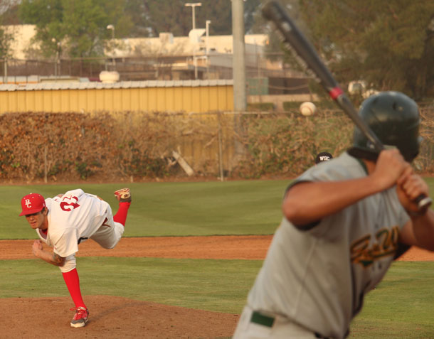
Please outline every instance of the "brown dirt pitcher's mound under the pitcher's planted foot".
[[[228, 338], [238, 316], [135, 301], [118, 296], [86, 296], [85, 328], [71, 328], [70, 298], [8, 298], [1, 308], [1, 338]], [[5, 314], [6, 316], [6, 314]]]

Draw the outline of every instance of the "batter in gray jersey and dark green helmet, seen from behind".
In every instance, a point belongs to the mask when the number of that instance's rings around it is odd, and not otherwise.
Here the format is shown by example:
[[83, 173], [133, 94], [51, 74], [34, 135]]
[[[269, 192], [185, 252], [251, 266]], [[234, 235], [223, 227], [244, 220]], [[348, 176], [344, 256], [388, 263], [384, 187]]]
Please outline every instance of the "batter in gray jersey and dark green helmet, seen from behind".
[[428, 185], [410, 164], [420, 144], [416, 102], [381, 92], [359, 115], [394, 148], [377, 154], [356, 128], [348, 151], [287, 188], [233, 338], [346, 338], [393, 259], [410, 246], [434, 251], [434, 212], [415, 203]]

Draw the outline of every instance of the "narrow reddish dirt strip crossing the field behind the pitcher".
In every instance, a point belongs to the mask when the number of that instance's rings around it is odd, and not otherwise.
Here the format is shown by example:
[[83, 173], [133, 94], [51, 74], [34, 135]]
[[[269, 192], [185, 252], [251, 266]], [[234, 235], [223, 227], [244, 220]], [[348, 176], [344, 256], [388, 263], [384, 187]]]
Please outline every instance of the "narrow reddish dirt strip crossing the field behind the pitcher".
[[[271, 235], [229, 235], [211, 237], [122, 238], [114, 249], [102, 249], [95, 242], [80, 244], [77, 257], [156, 257], [194, 259], [264, 259]], [[33, 259], [33, 240], [0, 240], [0, 259]], [[400, 260], [434, 261], [434, 252], [411, 248]]]

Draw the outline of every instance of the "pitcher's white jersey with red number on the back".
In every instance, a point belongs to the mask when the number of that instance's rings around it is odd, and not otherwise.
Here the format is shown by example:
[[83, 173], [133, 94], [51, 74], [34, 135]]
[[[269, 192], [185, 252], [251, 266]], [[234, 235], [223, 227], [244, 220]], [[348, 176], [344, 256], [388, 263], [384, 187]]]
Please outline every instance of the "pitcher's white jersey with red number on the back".
[[81, 189], [47, 198], [46, 205], [48, 234], [44, 237], [39, 230], [36, 232], [60, 257], [78, 252], [78, 244], [92, 237], [105, 222], [107, 208], [110, 208], [104, 200]]

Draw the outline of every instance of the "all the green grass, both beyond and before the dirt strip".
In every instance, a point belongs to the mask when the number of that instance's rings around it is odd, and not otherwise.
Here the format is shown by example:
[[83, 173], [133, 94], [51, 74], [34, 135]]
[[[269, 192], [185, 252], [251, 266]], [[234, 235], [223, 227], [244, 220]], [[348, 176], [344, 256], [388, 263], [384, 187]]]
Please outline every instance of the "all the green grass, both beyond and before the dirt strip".
[[[434, 178], [426, 179], [434, 192]], [[269, 235], [288, 181], [134, 183], [125, 236]], [[30, 192], [83, 188], [112, 203], [122, 185], [1, 186], [0, 240], [33, 239], [18, 217]], [[1, 242], [0, 242], [1, 249]], [[84, 295], [106, 294], [208, 311], [240, 313], [262, 261], [80, 257]], [[110, 280], [107, 280], [110, 272]], [[0, 260], [0, 298], [68, 296], [58, 269], [38, 259]], [[396, 262], [366, 296], [350, 338], [434, 338], [434, 262]], [[46, 289], [50, 286], [50, 289]]]

